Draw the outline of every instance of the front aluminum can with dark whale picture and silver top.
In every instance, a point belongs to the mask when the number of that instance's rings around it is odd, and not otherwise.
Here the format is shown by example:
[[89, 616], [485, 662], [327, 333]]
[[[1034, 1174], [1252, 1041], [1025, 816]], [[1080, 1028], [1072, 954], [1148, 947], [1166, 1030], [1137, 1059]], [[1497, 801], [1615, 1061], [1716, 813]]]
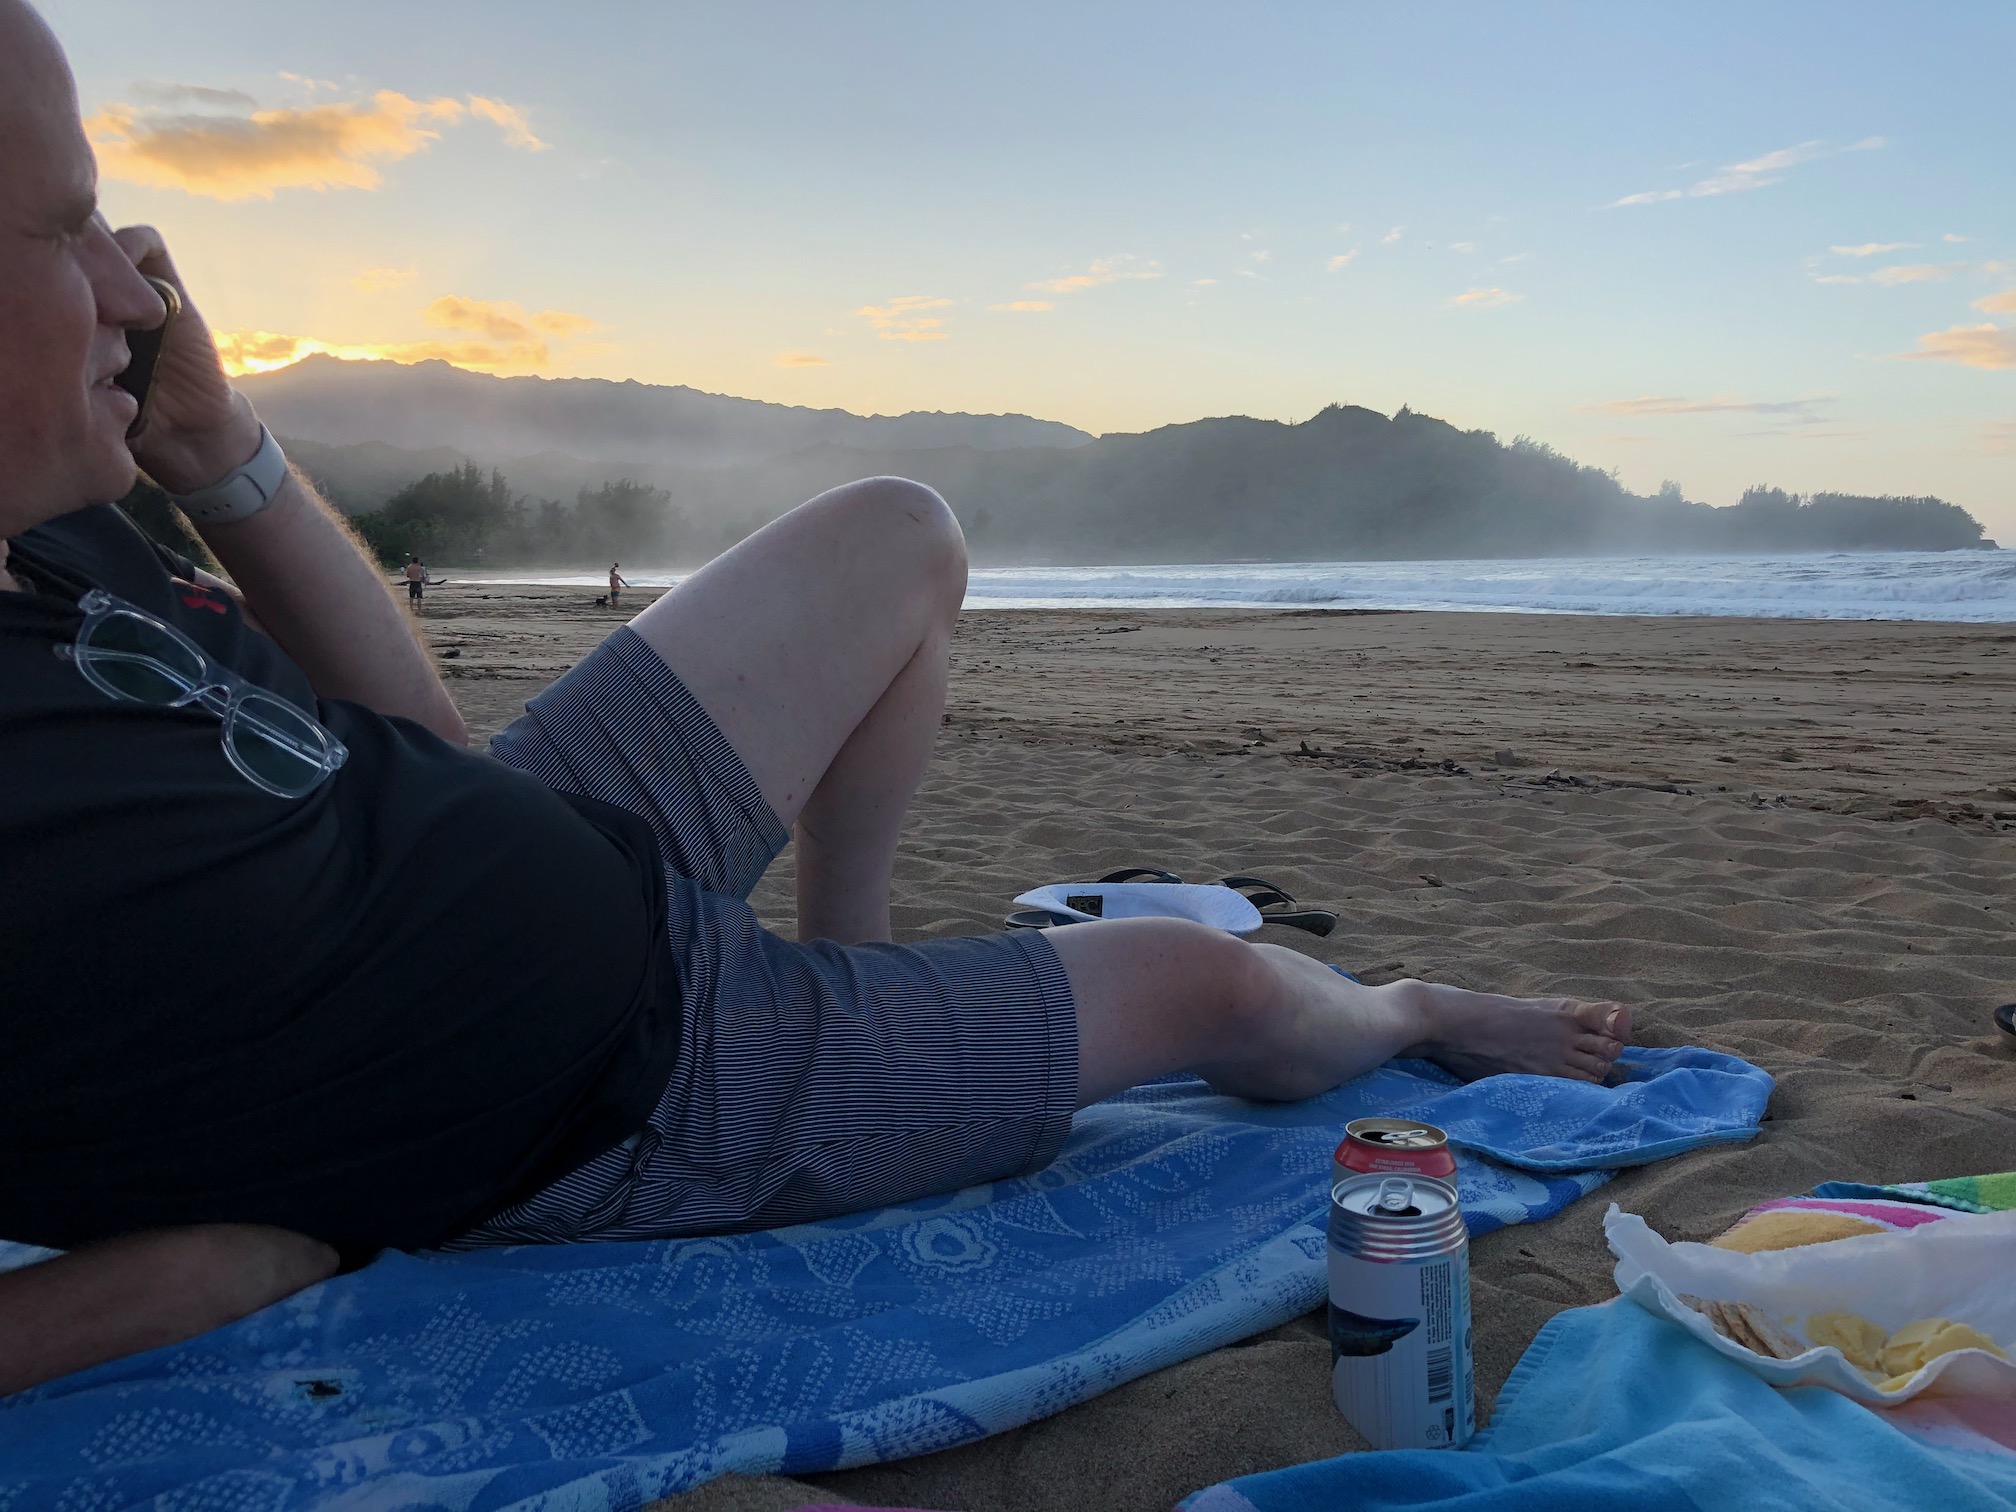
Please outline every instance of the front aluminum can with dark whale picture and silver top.
[[1454, 1450], [1476, 1429], [1454, 1181], [1371, 1173], [1331, 1189], [1331, 1395], [1375, 1450]]

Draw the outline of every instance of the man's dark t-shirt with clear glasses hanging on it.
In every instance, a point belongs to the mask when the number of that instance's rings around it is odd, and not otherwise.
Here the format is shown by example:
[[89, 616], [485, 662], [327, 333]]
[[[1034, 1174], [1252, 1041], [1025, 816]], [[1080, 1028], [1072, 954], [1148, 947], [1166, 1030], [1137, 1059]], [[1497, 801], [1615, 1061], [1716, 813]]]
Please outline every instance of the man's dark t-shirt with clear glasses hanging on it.
[[[439, 1242], [643, 1127], [679, 1036], [641, 818], [317, 700], [117, 508], [0, 593], [0, 1236], [262, 1222]], [[244, 780], [202, 710], [54, 655], [89, 587], [317, 714], [349, 760]]]

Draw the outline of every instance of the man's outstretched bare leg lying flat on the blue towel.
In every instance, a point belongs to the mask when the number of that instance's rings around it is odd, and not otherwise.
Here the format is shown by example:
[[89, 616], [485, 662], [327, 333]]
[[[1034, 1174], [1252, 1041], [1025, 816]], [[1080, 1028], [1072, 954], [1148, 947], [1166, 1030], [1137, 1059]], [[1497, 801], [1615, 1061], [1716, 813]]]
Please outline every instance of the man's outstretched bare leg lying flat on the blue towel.
[[1500, 998], [1427, 982], [1365, 988], [1278, 946], [1179, 919], [1050, 931], [1079, 1004], [1079, 1101], [1169, 1070], [1238, 1097], [1292, 1101], [1395, 1054], [1464, 1077], [1601, 1081], [1631, 1032], [1613, 1002]]

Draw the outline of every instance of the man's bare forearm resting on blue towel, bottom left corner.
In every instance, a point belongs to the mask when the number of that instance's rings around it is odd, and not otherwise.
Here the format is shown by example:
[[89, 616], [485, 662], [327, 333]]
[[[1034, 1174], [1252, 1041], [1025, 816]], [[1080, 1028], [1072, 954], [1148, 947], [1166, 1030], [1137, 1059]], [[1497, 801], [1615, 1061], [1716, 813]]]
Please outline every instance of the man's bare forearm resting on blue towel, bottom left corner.
[[260, 1224], [87, 1244], [0, 1274], [0, 1397], [222, 1329], [337, 1274], [337, 1252]]

